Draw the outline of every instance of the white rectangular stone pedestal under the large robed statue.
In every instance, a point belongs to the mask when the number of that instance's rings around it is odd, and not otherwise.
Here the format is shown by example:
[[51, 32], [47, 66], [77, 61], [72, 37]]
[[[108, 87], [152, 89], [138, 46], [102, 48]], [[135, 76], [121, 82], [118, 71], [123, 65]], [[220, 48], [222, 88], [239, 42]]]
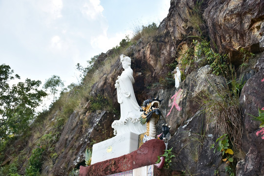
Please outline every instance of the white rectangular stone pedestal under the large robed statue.
[[138, 134], [128, 132], [92, 146], [91, 164], [130, 154], [137, 150]]

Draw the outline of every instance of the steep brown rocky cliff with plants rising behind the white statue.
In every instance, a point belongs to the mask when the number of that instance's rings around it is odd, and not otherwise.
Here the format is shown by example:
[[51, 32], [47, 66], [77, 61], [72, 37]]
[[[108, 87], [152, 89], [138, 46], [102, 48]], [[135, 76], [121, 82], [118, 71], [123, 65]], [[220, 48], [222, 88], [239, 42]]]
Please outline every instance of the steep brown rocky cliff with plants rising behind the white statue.
[[[172, 126], [171, 169], [185, 175], [264, 175], [261, 122], [252, 117], [264, 107], [263, 9], [263, 0], [171, 0], [156, 34], [123, 50], [132, 59], [138, 103], [151, 96], [164, 99], [156, 129]], [[65, 176], [85, 165], [87, 148], [113, 136], [111, 123], [119, 118], [114, 83], [122, 66], [113, 49], [93, 66], [87, 82], [67, 92], [65, 102], [77, 108], [64, 113], [66, 105], [55, 103], [35, 123], [46, 126], [33, 126], [33, 133], [8, 146], [2, 167], [16, 160], [24, 174], [39, 143], [45, 145], [42, 175]], [[182, 72], [179, 88], [172, 80], [175, 66]], [[71, 97], [80, 91], [84, 97], [76, 103]], [[219, 151], [226, 140], [234, 154]]]

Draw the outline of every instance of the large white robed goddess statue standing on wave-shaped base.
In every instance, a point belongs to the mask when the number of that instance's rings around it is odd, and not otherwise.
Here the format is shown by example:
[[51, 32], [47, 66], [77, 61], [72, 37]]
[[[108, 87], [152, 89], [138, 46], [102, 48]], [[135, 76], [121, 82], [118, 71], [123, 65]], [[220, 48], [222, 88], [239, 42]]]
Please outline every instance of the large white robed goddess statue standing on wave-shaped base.
[[132, 84], [134, 84], [131, 59], [125, 55], [120, 56], [124, 71], [117, 77], [115, 88], [117, 90], [117, 101], [120, 104], [121, 116], [119, 120], [112, 123], [114, 134], [120, 135], [126, 132], [143, 133], [146, 127], [139, 123], [142, 114], [136, 101]]

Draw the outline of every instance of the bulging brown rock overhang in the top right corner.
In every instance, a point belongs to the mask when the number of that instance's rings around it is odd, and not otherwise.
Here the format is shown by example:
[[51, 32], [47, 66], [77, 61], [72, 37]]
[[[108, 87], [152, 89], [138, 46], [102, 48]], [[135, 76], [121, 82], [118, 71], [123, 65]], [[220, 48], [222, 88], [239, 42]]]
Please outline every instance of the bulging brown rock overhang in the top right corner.
[[263, 8], [263, 0], [210, 0], [203, 18], [219, 52], [238, 62], [240, 48], [263, 51]]

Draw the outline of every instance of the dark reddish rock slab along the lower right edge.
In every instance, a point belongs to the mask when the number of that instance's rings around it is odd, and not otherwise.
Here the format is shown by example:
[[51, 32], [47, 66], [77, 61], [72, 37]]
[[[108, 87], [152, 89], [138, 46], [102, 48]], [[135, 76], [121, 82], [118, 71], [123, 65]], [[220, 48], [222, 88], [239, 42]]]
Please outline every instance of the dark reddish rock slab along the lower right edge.
[[237, 165], [238, 176], [264, 175], [264, 139], [256, 133], [260, 131], [260, 121], [253, 120], [251, 115], [258, 116], [258, 109], [264, 107], [264, 54], [255, 66], [257, 73], [244, 85], [240, 97], [244, 114], [243, 151], [244, 160]]

